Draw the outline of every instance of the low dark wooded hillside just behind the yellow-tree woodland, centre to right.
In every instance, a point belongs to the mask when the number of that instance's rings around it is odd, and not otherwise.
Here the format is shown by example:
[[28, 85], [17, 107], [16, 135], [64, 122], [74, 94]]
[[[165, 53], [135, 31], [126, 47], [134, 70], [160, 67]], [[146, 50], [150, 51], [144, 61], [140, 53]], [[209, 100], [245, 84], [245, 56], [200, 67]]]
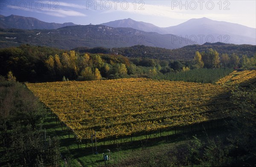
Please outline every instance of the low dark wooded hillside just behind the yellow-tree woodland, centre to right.
[[256, 54], [256, 46], [253, 45], [235, 45], [235, 44], [226, 44], [226, 43], [204, 43], [203, 45], [189, 45], [184, 46], [179, 49], [164, 49], [159, 47], [151, 47], [151, 46], [131, 46], [124, 48], [75, 48], [80, 53], [117, 53], [120, 55], [124, 55], [130, 58], [155, 58], [155, 59], [173, 59], [173, 60], [189, 60], [193, 59], [195, 56], [195, 52], [203, 52], [208, 49], [215, 49], [219, 52], [219, 54], [227, 53], [231, 55], [232, 53], [236, 53], [237, 55], [247, 55], [248, 57], [252, 57]]

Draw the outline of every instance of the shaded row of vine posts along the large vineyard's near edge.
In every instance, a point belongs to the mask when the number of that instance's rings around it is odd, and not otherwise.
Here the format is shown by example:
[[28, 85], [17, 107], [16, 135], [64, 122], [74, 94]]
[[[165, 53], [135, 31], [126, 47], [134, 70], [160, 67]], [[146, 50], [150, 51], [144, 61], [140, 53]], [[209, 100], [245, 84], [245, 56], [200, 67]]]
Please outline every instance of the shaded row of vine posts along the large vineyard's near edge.
[[[94, 153], [93, 149], [94, 148], [96, 149], [96, 132], [95, 132], [95, 134], [91, 135], [90, 139], [80, 139], [76, 135], [75, 131], [73, 129], [71, 129], [70, 127], [68, 127], [67, 124], [65, 124], [63, 121], [60, 121], [58, 116], [55, 113], [53, 113], [51, 110], [50, 110], [50, 114], [51, 114], [51, 118], [55, 117], [56, 124], [60, 124], [61, 130], [64, 130], [63, 125], [66, 127], [69, 138], [70, 138], [70, 130], [72, 131], [74, 139], [76, 139], [76, 144], [77, 144], [78, 149], [82, 148], [82, 144], [84, 144], [85, 149], [87, 149], [87, 147], [88, 148], [91, 147], [92, 153]], [[225, 120], [225, 118], [221, 118], [221, 119], [210, 120], [210, 121], [205, 121], [205, 122], [200, 122], [200, 123], [195, 123], [195, 124], [190, 124], [190, 125], [185, 125], [185, 126], [161, 128], [160, 130], [154, 130], [154, 131], [151, 131], [151, 130], [147, 131], [147, 127], [149, 125], [145, 125], [145, 132], [138, 132], [135, 134], [132, 133], [130, 135], [130, 137], [127, 135], [127, 136], [120, 136], [119, 138], [117, 138], [116, 136], [113, 136], [110, 138], [98, 139], [97, 142], [98, 142], [98, 146], [100, 146], [100, 147], [107, 146], [107, 145], [105, 145], [106, 142], [108, 142], [108, 145], [116, 144], [116, 142], [118, 140], [120, 143], [135, 142], [135, 141], [145, 141], [146, 142], [149, 139], [157, 138], [157, 139], [163, 140], [163, 137], [166, 137], [165, 140], [166, 140], [166, 142], [168, 142], [170, 140], [169, 138], [171, 137], [171, 135], [191, 134], [193, 132], [218, 129], [219, 127], [222, 127], [224, 125], [223, 124], [224, 120]], [[151, 135], [153, 135], [153, 137], [151, 137]], [[94, 136], [94, 138], [93, 138], [93, 136]], [[130, 140], [129, 140], [129, 138], [130, 138]], [[95, 140], [95, 142], [93, 142], [94, 140]], [[113, 141], [113, 143], [112, 143], [112, 141]], [[92, 145], [89, 145], [88, 143], [91, 143]], [[80, 148], [79, 148], [79, 145], [80, 145]], [[97, 150], [96, 150], [96, 152], [97, 152]]]

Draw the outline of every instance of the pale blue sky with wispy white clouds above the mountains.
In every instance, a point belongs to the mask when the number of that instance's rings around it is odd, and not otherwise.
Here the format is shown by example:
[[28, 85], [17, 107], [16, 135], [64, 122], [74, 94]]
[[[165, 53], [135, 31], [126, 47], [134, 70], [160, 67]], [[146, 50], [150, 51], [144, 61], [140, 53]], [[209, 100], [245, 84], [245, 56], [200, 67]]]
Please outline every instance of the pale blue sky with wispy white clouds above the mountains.
[[0, 0], [0, 14], [80, 25], [131, 18], [159, 27], [207, 17], [256, 28], [256, 0]]

